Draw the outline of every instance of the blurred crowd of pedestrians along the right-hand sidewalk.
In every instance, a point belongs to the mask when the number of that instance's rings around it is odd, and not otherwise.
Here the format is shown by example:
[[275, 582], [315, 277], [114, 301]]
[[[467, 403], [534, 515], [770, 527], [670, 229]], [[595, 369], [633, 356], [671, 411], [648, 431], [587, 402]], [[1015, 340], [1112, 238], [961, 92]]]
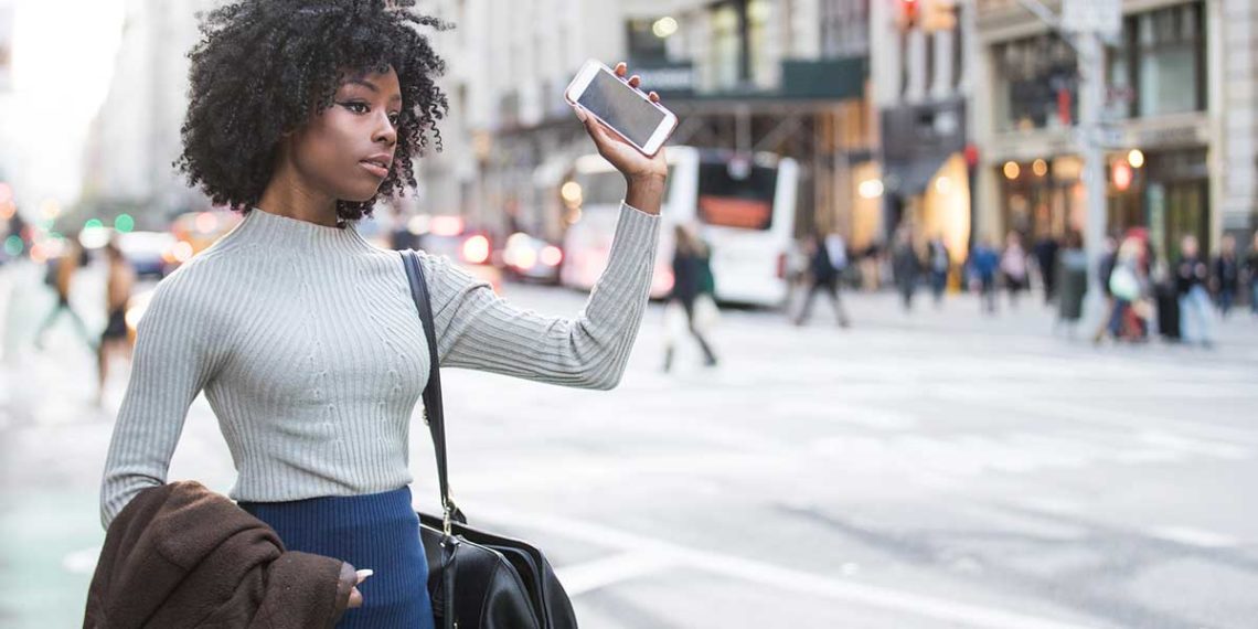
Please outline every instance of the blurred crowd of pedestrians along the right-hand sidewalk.
[[818, 294], [824, 294], [835, 321], [847, 327], [852, 320], [840, 297], [844, 288], [893, 287], [906, 312], [913, 309], [918, 289], [928, 291], [938, 308], [951, 288], [976, 296], [985, 314], [995, 314], [1003, 302], [1016, 309], [1039, 291], [1043, 302], [1055, 308], [1058, 328], [1074, 335], [1093, 264], [1094, 288], [1103, 296], [1103, 316], [1091, 335], [1098, 343], [1160, 336], [1208, 347], [1215, 342], [1218, 322], [1237, 308], [1248, 306], [1258, 317], [1258, 234], [1244, 255], [1235, 237], [1224, 235], [1218, 253], [1209, 257], [1194, 235], [1161, 254], [1147, 229], [1132, 228], [1108, 237], [1097, 260], [1088, 260], [1077, 231], [1060, 239], [1042, 237], [1030, 247], [1024, 242], [1018, 231], [1006, 234], [1000, 247], [980, 238], [957, 263], [941, 234], [922, 239], [911, 225], [894, 231], [891, 247], [860, 250], [850, 250], [837, 233], [805, 238], [788, 268], [794, 293], [789, 314], [796, 325], [806, 323]]

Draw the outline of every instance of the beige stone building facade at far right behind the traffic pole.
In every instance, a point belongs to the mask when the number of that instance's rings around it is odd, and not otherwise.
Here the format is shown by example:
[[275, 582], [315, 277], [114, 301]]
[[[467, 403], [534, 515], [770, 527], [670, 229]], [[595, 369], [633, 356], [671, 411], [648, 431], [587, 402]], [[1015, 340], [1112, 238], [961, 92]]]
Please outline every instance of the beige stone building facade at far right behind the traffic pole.
[[[1013, 0], [979, 3], [979, 223], [996, 237], [1083, 230], [1074, 52]], [[1127, 0], [1105, 47], [1106, 213], [1157, 255], [1253, 229], [1255, 10], [1248, 0]]]

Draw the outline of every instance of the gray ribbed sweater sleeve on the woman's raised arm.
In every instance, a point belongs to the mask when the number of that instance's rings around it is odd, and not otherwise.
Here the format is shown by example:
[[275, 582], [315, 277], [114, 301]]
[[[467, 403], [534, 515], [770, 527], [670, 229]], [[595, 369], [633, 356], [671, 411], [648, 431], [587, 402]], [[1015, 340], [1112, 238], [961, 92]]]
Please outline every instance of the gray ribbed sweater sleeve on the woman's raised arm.
[[448, 259], [421, 255], [442, 365], [585, 389], [616, 386], [647, 307], [658, 235], [659, 216], [621, 205], [608, 268], [575, 318], [516, 308]]

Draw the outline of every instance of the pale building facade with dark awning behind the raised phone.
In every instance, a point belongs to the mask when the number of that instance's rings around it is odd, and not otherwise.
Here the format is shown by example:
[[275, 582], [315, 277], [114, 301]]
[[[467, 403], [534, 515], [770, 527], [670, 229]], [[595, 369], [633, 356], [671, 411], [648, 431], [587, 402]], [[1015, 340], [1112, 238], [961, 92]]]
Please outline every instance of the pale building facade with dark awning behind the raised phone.
[[593, 151], [562, 91], [587, 58], [623, 59], [678, 113], [674, 145], [800, 161], [800, 230], [850, 230], [855, 164], [872, 157], [864, 103], [868, 0], [440, 0], [458, 25], [447, 150], [420, 164], [430, 211], [556, 239], [559, 186]]

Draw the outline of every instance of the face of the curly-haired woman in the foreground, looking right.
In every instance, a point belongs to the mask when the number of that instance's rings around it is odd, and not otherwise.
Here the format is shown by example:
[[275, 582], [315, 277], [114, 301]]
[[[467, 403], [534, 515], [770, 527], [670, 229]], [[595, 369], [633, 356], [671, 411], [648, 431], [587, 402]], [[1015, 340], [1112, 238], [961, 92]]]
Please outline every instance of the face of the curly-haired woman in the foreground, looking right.
[[392, 169], [401, 104], [392, 68], [346, 78], [332, 106], [289, 138], [289, 159], [303, 184], [345, 201], [375, 196]]

